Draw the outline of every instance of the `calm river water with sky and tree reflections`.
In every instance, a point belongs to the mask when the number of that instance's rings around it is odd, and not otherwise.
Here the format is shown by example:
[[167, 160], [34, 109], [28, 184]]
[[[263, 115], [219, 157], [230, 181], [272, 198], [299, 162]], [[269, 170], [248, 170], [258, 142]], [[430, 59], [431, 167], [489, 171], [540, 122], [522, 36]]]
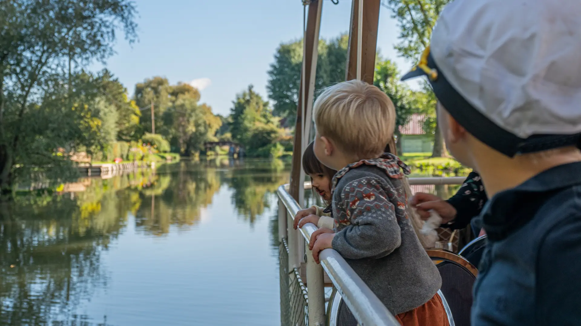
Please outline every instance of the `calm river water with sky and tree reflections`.
[[282, 161], [207, 160], [0, 207], [1, 325], [280, 324]]

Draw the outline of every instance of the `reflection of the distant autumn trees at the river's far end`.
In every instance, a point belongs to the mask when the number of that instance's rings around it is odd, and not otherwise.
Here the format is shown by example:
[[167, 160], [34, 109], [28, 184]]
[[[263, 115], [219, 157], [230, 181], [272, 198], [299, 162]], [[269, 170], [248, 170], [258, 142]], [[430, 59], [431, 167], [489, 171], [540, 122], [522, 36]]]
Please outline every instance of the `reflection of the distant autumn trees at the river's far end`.
[[141, 191], [136, 224], [156, 235], [167, 234], [171, 225], [191, 227], [199, 222], [201, 210], [212, 204], [222, 184], [234, 190], [232, 204], [252, 224], [268, 207], [267, 193], [274, 193], [288, 179], [284, 169], [281, 160], [228, 158], [168, 165], [157, 171], [156, 184]]

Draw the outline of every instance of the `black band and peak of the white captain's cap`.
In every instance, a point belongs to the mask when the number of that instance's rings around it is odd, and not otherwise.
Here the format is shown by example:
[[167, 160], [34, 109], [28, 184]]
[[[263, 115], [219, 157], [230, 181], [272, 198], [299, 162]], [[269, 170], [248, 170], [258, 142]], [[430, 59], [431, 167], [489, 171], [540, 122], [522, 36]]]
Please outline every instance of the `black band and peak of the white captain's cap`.
[[[581, 133], [576, 133], [574, 135], [533, 135], [528, 138], [521, 138], [514, 135], [514, 133], [501, 128], [492, 122], [489, 118], [480, 113], [479, 110], [476, 110], [472, 104], [468, 103], [468, 101], [465, 100], [452, 85], [450, 85], [450, 82], [448, 82], [448, 79], [446, 79], [446, 76], [444, 76], [442, 71], [438, 69], [431, 53], [428, 56], [428, 67], [436, 69], [437, 71], [437, 78], [433, 80], [428, 78], [428, 81], [432, 86], [437, 100], [442, 103], [442, 106], [446, 108], [446, 111], [456, 119], [458, 124], [476, 137], [476, 139], [485, 143], [487, 146], [494, 148], [500, 153], [503, 153], [508, 157], [514, 157], [516, 154], [534, 153], [558, 147], [581, 147]], [[404, 75], [401, 80], [404, 81], [420, 75], [425, 76], [426, 74], [421, 69], [416, 68], [415, 70], [410, 71], [410, 73]]]

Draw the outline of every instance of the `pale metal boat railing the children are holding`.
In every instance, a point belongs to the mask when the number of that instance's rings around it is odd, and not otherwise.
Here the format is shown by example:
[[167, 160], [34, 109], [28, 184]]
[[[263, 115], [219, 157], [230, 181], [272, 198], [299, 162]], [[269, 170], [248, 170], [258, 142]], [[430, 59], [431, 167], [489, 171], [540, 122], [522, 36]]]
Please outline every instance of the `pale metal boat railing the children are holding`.
[[[465, 178], [410, 178], [410, 184], [461, 184]], [[325, 270], [347, 307], [351, 310], [360, 325], [399, 326], [389, 310], [371, 291], [345, 259], [333, 249], [321, 251], [318, 265], [313, 259], [305, 242], [317, 230], [313, 223], [306, 223], [299, 230], [293, 229], [293, 218], [301, 209], [299, 204], [288, 193], [288, 184], [278, 188], [278, 237], [288, 244], [289, 270], [300, 269], [306, 256], [307, 305], [309, 325], [325, 324]], [[310, 182], [304, 183], [310, 189]]]

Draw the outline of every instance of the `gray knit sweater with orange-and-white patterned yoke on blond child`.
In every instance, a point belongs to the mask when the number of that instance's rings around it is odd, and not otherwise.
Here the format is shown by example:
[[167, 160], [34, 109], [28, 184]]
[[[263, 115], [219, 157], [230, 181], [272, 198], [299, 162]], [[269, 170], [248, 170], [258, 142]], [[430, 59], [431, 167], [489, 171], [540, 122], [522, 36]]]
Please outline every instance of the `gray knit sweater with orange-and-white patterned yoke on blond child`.
[[393, 313], [428, 302], [440, 273], [411, 226], [401, 169], [394, 155], [347, 165], [333, 178], [332, 247]]

